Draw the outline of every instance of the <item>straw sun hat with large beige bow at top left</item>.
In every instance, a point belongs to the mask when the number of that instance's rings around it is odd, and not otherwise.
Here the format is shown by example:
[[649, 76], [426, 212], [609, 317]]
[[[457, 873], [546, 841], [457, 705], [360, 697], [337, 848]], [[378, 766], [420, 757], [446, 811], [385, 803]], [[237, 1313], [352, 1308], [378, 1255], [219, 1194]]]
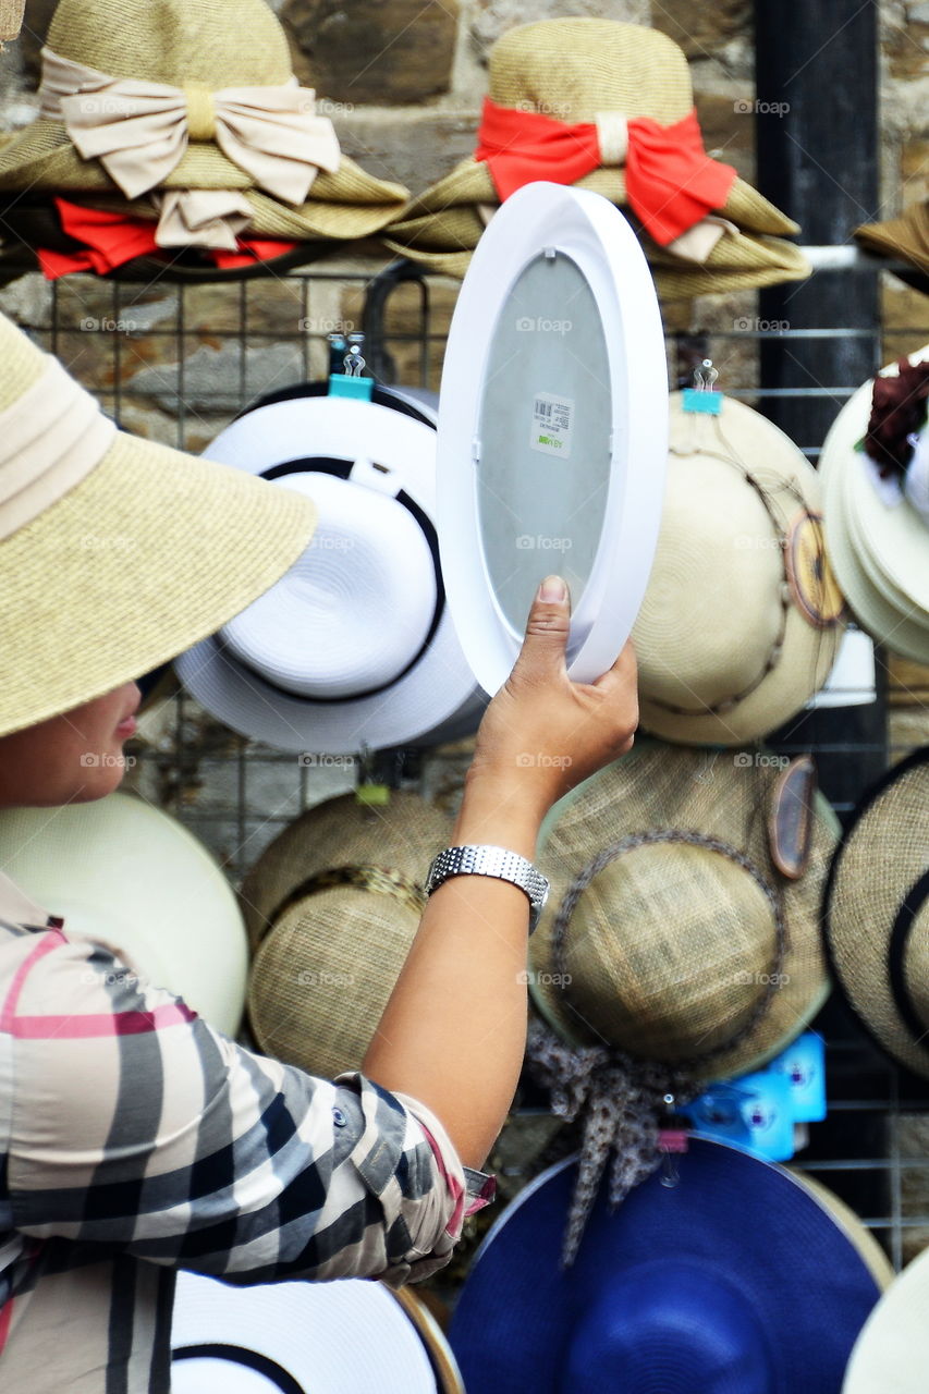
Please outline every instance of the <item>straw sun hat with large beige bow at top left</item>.
[[406, 198], [340, 153], [265, 0], [61, 0], [39, 98], [0, 192], [158, 220], [162, 247], [364, 237]]

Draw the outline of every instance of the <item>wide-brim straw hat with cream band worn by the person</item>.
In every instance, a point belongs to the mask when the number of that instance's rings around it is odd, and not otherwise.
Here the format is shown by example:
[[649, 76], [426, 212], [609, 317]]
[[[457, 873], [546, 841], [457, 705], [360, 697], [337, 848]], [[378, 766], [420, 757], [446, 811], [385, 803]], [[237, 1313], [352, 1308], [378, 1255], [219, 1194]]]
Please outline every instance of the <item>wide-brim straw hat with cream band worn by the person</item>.
[[0, 735], [213, 633], [312, 535], [307, 498], [117, 432], [0, 316]]

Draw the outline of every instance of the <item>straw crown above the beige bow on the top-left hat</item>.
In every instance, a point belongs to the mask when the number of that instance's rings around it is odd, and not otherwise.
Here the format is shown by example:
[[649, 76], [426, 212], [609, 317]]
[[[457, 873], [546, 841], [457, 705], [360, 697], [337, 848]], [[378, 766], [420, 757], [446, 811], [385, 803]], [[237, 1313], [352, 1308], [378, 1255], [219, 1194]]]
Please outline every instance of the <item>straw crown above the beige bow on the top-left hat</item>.
[[278, 86], [293, 71], [265, 0], [61, 0], [47, 45], [109, 77], [169, 86]]

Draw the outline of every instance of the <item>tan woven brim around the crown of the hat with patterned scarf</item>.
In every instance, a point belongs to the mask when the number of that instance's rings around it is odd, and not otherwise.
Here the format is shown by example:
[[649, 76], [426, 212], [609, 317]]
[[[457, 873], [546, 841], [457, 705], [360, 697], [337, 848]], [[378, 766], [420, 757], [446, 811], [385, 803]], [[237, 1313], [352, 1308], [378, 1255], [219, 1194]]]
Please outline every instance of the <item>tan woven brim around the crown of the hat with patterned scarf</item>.
[[[809, 866], [798, 881], [783, 881], [771, 866], [767, 845], [767, 799], [776, 778], [774, 767], [757, 765], [753, 757], [742, 760], [728, 750], [710, 754], [640, 740], [628, 756], [555, 804], [538, 839], [538, 863], [551, 881], [551, 892], [530, 940], [530, 991], [538, 1011], [562, 1037], [573, 1044], [610, 1044], [572, 1006], [571, 984], [557, 986], [561, 969], [554, 959], [552, 930], [568, 887], [604, 848], [653, 829], [677, 828], [725, 842], [743, 852], [769, 884], [778, 884], [783, 892], [788, 940], [781, 967], [784, 983], [734, 1048], [720, 1048], [700, 1062], [697, 1078], [728, 1079], [760, 1068], [813, 1019], [830, 988], [819, 907], [840, 829], [827, 800], [817, 793]], [[674, 857], [672, 846], [667, 855]], [[635, 938], [635, 921], [629, 934]], [[699, 973], [702, 965], [695, 963], [693, 969]], [[757, 969], [763, 976], [769, 965], [759, 963]], [[731, 993], [737, 991], [734, 986]], [[745, 984], [742, 991], [750, 1008], [760, 988]]]

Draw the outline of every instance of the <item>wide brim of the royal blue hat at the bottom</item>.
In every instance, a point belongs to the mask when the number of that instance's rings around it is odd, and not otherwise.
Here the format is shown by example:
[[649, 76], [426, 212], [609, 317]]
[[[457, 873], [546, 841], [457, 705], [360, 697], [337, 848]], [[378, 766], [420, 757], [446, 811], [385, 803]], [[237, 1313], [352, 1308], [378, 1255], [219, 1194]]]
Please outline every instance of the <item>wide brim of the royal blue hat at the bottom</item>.
[[[880, 1295], [858, 1246], [781, 1167], [700, 1138], [689, 1139], [677, 1164], [677, 1186], [654, 1174], [614, 1211], [603, 1186], [566, 1271], [558, 1259], [575, 1158], [520, 1192], [478, 1250], [452, 1319], [449, 1340], [469, 1394], [558, 1394], [572, 1333], [603, 1302], [611, 1278], [633, 1281], [636, 1270], [654, 1264], [670, 1295], [678, 1264], [699, 1269], [707, 1284], [738, 1287], [764, 1341], [766, 1387], [836, 1394]], [[697, 1324], [713, 1319], [707, 1309], [681, 1315]], [[610, 1333], [597, 1334], [608, 1352]], [[598, 1358], [600, 1379], [586, 1387], [615, 1388], [622, 1370], [608, 1370], [601, 1351], [590, 1348], [589, 1356]], [[682, 1368], [663, 1347], [643, 1351], [643, 1363], [649, 1358], [663, 1390], [707, 1387], [699, 1369]]]

